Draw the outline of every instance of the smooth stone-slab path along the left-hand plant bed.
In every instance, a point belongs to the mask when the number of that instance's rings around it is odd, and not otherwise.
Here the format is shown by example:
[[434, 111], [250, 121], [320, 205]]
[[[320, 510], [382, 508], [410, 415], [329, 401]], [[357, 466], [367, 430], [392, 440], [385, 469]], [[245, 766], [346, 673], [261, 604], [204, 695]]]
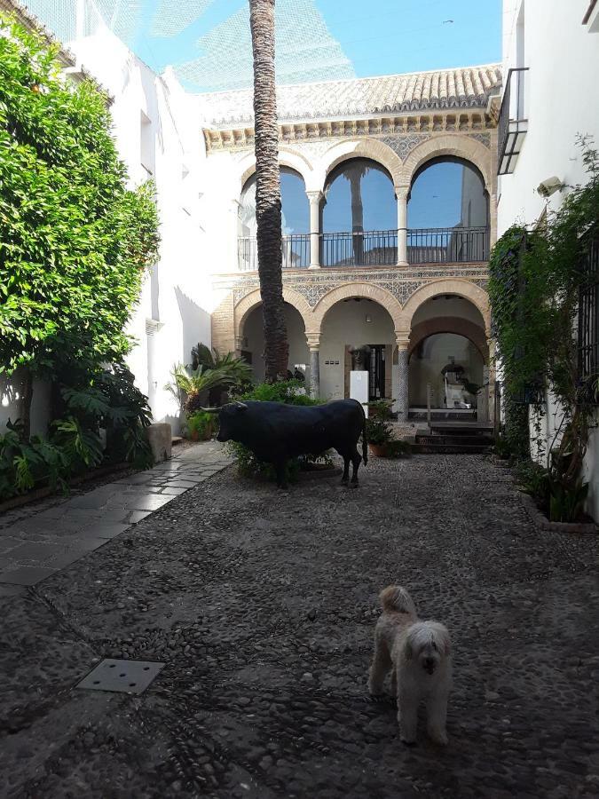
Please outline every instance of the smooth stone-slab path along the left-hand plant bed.
[[0, 516], [0, 596], [22, 593], [97, 550], [231, 463], [216, 441], [177, 447], [154, 469]]

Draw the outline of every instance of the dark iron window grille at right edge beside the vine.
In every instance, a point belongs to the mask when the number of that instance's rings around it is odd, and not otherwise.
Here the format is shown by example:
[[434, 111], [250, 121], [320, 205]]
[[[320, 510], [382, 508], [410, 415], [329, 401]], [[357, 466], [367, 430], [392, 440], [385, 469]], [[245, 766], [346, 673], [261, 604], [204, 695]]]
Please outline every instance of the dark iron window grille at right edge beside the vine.
[[[599, 378], [599, 231], [587, 234], [580, 272], [584, 283], [579, 292], [579, 377]], [[595, 395], [596, 396], [596, 395]]]

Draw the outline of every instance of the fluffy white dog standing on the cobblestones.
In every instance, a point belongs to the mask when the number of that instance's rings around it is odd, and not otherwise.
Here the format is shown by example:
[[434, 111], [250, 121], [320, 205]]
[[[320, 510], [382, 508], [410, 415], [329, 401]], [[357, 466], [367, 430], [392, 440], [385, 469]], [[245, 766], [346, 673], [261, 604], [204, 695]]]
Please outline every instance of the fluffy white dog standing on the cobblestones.
[[452, 684], [449, 633], [438, 621], [418, 621], [406, 589], [390, 585], [382, 590], [380, 598], [382, 614], [374, 631], [368, 691], [381, 694], [385, 675], [392, 668], [401, 740], [414, 743], [418, 706], [425, 700], [430, 739], [446, 744], [447, 697]]

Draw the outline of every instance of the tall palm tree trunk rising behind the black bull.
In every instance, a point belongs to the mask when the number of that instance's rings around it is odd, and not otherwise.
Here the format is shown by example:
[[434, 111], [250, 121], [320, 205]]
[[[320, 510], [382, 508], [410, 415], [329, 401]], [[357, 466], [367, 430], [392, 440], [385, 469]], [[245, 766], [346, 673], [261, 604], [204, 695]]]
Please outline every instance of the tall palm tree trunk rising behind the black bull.
[[264, 319], [264, 376], [286, 377], [289, 345], [283, 304], [279, 128], [274, 80], [274, 0], [249, 0], [254, 52], [256, 238]]

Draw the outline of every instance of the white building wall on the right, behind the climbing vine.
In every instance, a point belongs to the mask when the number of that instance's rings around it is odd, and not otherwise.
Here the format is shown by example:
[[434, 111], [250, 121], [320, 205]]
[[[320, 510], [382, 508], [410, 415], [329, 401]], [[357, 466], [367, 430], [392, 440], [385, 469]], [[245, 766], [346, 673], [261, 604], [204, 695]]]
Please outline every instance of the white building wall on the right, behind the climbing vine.
[[[528, 133], [512, 175], [500, 178], [498, 231], [531, 225], [547, 206], [556, 210], [564, 192], [548, 201], [535, 189], [556, 175], [565, 184], [587, 182], [578, 134], [599, 146], [599, 32], [582, 25], [588, 0], [504, 0], [504, 68], [530, 67], [524, 108]], [[518, 20], [520, 25], [518, 25]], [[524, 25], [522, 22], [524, 21]], [[524, 33], [524, 36], [522, 34]], [[544, 434], [552, 439], [559, 408], [548, 397]], [[599, 432], [592, 431], [585, 460], [588, 510], [599, 519]]]

